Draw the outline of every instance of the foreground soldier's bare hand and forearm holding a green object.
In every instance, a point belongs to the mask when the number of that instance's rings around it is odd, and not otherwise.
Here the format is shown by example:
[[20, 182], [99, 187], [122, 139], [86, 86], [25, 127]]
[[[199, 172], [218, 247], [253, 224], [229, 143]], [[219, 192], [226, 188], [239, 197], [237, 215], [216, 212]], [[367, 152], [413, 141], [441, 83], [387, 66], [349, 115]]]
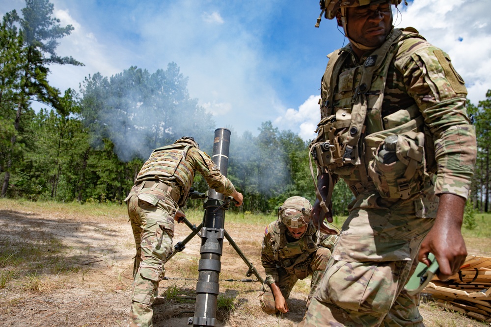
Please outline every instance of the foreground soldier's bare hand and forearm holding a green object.
[[426, 235], [419, 250], [418, 259], [427, 266], [431, 263], [428, 260], [428, 253], [435, 254], [440, 280], [447, 280], [456, 274], [467, 256], [461, 232], [464, 205], [464, 198], [450, 193], [442, 194], [435, 225]]

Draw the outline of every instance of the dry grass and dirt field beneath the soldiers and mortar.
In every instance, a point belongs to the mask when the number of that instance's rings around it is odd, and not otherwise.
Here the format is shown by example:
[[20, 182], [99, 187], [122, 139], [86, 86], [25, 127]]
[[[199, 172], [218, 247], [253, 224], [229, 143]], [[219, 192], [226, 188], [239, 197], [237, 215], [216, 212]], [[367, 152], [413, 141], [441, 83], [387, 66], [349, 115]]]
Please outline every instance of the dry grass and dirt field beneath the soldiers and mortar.
[[[202, 210], [186, 214], [196, 225], [203, 217]], [[273, 214], [226, 213], [225, 229], [261, 274], [262, 235], [274, 219]], [[341, 227], [344, 220], [337, 217], [334, 225]], [[491, 215], [477, 214], [475, 222], [476, 228], [463, 229], [468, 252], [491, 256]], [[189, 232], [187, 226], [176, 225], [175, 242]], [[186, 326], [186, 315], [192, 316], [199, 246], [199, 239], [193, 238], [185, 251], [166, 264], [166, 276], [176, 279], [161, 282], [154, 326]], [[134, 252], [123, 205], [0, 199], [3, 326], [126, 326]], [[234, 281], [220, 283], [217, 326], [296, 326], [303, 315], [309, 280], [296, 284], [291, 313], [273, 317], [259, 308], [259, 283], [237, 281], [246, 278], [246, 270], [224, 242], [220, 278]], [[488, 326], [444, 311], [431, 300], [421, 303], [420, 311], [426, 326]]]

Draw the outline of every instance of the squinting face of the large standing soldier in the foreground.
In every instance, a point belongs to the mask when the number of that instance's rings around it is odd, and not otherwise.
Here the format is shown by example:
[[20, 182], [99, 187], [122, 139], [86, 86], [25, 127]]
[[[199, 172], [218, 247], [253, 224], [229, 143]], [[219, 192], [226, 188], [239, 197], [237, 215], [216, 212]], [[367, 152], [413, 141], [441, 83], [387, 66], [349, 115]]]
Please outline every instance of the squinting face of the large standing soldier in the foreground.
[[367, 47], [379, 47], [392, 29], [390, 2], [347, 8], [348, 37]]

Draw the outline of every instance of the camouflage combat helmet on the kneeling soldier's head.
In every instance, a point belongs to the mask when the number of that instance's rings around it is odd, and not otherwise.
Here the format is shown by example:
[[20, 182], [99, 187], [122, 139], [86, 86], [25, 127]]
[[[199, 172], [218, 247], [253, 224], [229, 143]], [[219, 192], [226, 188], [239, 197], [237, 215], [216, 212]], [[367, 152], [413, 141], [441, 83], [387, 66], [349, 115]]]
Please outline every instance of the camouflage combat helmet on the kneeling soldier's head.
[[290, 228], [301, 228], [311, 218], [312, 204], [302, 197], [291, 197], [278, 208], [278, 220]]

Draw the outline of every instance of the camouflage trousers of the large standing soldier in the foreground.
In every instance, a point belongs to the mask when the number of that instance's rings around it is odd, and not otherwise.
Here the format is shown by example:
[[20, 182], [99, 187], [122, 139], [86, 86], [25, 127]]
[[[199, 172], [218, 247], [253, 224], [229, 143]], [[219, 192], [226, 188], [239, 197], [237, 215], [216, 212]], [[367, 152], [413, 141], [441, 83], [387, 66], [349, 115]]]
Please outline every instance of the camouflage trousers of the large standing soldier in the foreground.
[[436, 216], [435, 196], [358, 196], [307, 311], [304, 326], [424, 326], [419, 295], [404, 291]]

